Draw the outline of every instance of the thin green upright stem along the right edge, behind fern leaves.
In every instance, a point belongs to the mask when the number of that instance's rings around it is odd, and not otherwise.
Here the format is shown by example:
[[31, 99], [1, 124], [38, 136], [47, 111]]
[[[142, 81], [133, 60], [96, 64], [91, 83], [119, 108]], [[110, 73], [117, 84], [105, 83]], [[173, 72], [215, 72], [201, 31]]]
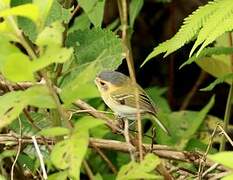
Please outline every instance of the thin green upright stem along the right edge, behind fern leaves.
[[[233, 40], [232, 40], [231, 32], [228, 33], [228, 39], [229, 39], [230, 47], [233, 47], [233, 42], [232, 42]], [[233, 71], [233, 54], [230, 55], [230, 59], [231, 59], [231, 70]], [[226, 104], [225, 114], [224, 114], [223, 130], [225, 132], [227, 132], [227, 130], [228, 130], [228, 124], [229, 124], [229, 121], [230, 121], [232, 99], [233, 99], [233, 81], [231, 82], [230, 90], [229, 90], [228, 97], [227, 97], [227, 104]], [[224, 136], [222, 136], [219, 150], [224, 151], [225, 147], [226, 147], [226, 139], [225, 139]]]

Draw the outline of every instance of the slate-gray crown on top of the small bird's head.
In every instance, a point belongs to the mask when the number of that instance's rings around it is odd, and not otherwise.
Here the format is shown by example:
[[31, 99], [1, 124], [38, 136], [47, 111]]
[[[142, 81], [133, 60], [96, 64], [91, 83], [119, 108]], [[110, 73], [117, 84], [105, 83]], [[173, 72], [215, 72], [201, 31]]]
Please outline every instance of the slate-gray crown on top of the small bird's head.
[[117, 71], [102, 71], [97, 77], [116, 86], [122, 85], [128, 79], [128, 76]]

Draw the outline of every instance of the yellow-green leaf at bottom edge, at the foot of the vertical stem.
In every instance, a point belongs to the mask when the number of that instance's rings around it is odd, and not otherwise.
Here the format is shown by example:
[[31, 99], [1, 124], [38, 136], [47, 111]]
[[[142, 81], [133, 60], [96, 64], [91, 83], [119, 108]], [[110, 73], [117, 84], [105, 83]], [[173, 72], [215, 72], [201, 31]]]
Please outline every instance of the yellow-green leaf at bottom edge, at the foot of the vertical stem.
[[141, 164], [130, 162], [121, 167], [117, 175], [117, 180], [127, 179], [163, 179], [161, 176], [152, 174], [156, 166], [160, 164], [160, 159], [154, 154], [147, 154]]

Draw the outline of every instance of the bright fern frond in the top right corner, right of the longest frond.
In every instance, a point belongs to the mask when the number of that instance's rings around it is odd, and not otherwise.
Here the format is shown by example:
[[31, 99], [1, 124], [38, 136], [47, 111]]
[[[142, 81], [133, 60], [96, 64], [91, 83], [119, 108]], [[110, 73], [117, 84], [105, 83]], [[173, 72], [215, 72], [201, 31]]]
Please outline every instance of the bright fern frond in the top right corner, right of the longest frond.
[[[233, 14], [233, 1], [232, 0], [221, 0], [220, 2], [216, 3], [217, 8], [213, 15], [208, 18], [208, 21], [203, 24], [202, 29], [200, 30], [197, 40], [193, 45], [192, 50], [190, 51], [190, 56], [192, 56], [195, 49], [201, 45], [211, 34], [215, 31], [216, 28], [222, 29], [222, 23], [230, 18]], [[224, 33], [225, 31], [223, 31]], [[221, 34], [220, 34], [221, 35]], [[214, 38], [215, 40], [215, 38]], [[199, 49], [197, 55], [200, 51], [206, 46], [202, 46]]]

